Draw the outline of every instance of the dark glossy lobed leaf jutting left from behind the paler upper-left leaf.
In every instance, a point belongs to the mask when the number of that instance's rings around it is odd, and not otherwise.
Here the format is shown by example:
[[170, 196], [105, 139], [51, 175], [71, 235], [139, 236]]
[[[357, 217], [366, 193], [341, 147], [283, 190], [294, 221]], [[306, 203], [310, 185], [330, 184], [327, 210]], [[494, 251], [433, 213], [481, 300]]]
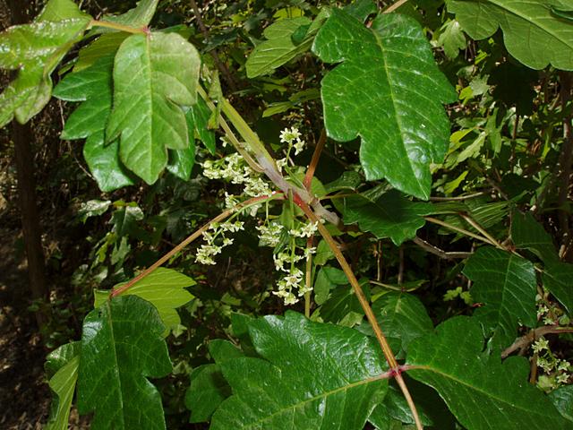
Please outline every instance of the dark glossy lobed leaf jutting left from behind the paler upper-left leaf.
[[105, 129], [112, 107], [114, 56], [99, 58], [78, 73], [69, 73], [54, 90], [66, 101], [82, 101], [65, 122], [62, 139], [86, 139], [83, 156], [99, 189], [111, 192], [133, 185], [130, 172], [119, 160], [119, 143], [105, 144]]

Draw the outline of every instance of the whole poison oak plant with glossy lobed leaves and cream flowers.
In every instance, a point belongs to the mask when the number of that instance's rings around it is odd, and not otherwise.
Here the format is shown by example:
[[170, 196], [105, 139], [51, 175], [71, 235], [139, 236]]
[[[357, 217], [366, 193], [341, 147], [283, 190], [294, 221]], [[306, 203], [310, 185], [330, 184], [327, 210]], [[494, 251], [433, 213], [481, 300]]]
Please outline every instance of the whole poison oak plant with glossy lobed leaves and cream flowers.
[[[285, 9], [252, 49], [244, 67], [253, 82], [301, 56], [323, 64], [324, 132], [306, 168], [297, 162], [309, 140], [301, 123], [277, 136], [273, 157], [222, 94], [208, 55], [201, 58], [186, 30], [149, 27], [158, 0], [99, 20], [72, 0], [50, 0], [34, 22], [0, 35], [0, 66], [18, 71], [0, 96], [0, 125], [29, 121], [52, 95], [80, 102], [62, 138], [85, 139], [85, 160], [103, 192], [140, 179], [151, 185], [167, 172], [189, 180], [197, 153], [203, 176], [236, 190], [222, 196], [225, 211], [158, 262], [111, 291], [95, 292], [81, 340], [47, 357], [55, 395], [48, 428], [67, 428], [74, 393], [80, 414], [93, 414], [94, 429], [166, 427], [150, 379], [172, 372], [166, 337], [180, 326], [176, 309], [193, 299], [195, 281], [160, 266], [199, 240], [196, 262], [216, 264], [247, 224], [256, 226], [261, 246], [272, 248], [278, 276], [268, 299], [302, 302], [305, 314], [234, 314], [236, 343], [213, 340], [213, 363], [192, 371], [186, 396], [192, 422], [210, 421], [212, 429], [573, 426], [573, 369], [567, 357], [536, 340], [571, 331], [573, 266], [560, 261], [552, 237], [531, 214], [513, 209], [518, 198], [485, 204], [482, 192], [430, 199], [432, 173], [469, 165], [485, 142], [480, 130], [495, 143], [492, 130], [499, 128], [495, 118], [483, 127], [458, 117], [466, 134], [450, 138], [454, 114], [444, 106], [457, 102], [458, 93], [412, 17], [415, 6], [398, 7], [404, 3], [379, 10], [357, 1], [297, 9], [296, 16]], [[434, 42], [448, 56], [465, 46], [462, 30], [475, 41], [500, 27], [518, 62], [573, 70], [569, 2], [451, 0], [446, 8], [455, 21], [444, 22]], [[70, 59], [74, 46], [81, 48]], [[52, 89], [51, 74], [64, 58], [66, 73]], [[462, 100], [480, 94], [477, 85], [472, 90]], [[317, 94], [275, 103], [266, 115]], [[570, 127], [568, 101], [563, 96], [561, 121]], [[221, 145], [215, 129], [223, 133]], [[479, 136], [460, 152], [468, 133]], [[328, 139], [348, 159], [357, 150], [359, 165], [341, 168], [324, 185], [314, 173]], [[462, 175], [449, 190], [468, 172]], [[511, 210], [509, 231], [489, 230]], [[445, 252], [416, 236], [426, 223], [467, 237], [472, 252]], [[434, 327], [399, 277], [393, 286], [355, 275], [344, 252], [350, 235], [396, 246], [412, 240], [443, 258], [462, 258], [474, 312]], [[553, 378], [546, 391], [560, 387], [550, 395], [528, 383], [526, 358], [513, 354], [534, 341], [534, 360], [543, 359], [545, 377]]]

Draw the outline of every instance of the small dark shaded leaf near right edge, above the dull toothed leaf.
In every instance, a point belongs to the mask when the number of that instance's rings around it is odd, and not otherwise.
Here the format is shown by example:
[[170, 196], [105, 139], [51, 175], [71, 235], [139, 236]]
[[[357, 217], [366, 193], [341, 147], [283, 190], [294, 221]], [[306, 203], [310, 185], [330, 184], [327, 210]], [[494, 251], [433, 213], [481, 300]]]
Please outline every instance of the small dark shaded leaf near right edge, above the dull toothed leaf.
[[542, 262], [559, 262], [552, 236], [545, 231], [534, 216], [514, 211], [511, 217], [511, 240], [517, 249], [528, 249]]

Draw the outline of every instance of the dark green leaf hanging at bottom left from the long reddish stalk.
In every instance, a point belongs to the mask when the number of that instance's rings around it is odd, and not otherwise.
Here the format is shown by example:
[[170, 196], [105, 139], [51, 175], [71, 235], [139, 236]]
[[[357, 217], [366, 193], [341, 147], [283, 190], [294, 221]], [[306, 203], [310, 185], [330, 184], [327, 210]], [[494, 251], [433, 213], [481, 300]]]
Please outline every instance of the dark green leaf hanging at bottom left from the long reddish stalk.
[[78, 410], [91, 428], [165, 429], [161, 396], [146, 379], [171, 372], [158, 311], [141, 297], [116, 297], [86, 316]]

